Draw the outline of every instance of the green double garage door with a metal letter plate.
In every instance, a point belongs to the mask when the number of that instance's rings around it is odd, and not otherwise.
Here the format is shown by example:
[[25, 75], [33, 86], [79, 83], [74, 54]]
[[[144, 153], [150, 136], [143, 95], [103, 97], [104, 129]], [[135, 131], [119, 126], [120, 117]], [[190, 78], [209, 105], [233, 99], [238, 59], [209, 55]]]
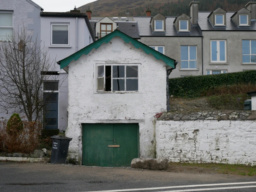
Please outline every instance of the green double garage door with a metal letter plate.
[[139, 157], [139, 125], [83, 124], [83, 165], [129, 167]]

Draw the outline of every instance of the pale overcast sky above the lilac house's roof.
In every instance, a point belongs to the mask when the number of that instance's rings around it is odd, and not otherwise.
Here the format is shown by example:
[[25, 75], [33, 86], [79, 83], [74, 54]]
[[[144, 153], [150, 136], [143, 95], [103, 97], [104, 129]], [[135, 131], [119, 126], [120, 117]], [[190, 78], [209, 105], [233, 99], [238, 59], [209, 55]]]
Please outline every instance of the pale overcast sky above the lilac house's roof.
[[95, 0], [32, 0], [46, 12], [66, 12]]

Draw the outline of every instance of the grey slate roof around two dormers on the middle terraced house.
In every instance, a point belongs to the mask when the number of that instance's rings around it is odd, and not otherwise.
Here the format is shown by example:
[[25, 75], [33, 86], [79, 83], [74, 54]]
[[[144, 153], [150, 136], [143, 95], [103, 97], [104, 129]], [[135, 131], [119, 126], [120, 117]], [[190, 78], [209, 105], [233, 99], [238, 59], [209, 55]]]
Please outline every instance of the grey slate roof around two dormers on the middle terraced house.
[[[152, 17], [134, 16], [134, 21], [138, 22], [140, 36], [202, 36], [197, 26], [190, 23], [190, 32], [178, 32], [173, 24], [176, 17], [166, 17], [166, 30], [164, 32], [152, 32], [150, 20]], [[206, 17], [207, 18], [207, 17]]]

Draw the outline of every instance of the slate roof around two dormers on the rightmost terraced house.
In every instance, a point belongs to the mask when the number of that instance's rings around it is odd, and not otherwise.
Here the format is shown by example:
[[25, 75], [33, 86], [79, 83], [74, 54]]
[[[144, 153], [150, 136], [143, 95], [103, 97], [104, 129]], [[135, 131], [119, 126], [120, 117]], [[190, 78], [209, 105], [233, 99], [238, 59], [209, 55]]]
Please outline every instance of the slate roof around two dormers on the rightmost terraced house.
[[211, 14], [211, 11], [199, 11], [198, 12], [198, 24], [201, 28], [201, 30], [235, 30], [235, 31], [247, 31], [247, 30], [256, 30], [256, 21], [251, 20], [251, 26], [249, 27], [239, 27], [234, 24], [232, 19], [230, 18], [235, 11], [228, 11], [226, 13], [226, 26], [212, 26], [210, 21], [208, 20], [208, 15]]

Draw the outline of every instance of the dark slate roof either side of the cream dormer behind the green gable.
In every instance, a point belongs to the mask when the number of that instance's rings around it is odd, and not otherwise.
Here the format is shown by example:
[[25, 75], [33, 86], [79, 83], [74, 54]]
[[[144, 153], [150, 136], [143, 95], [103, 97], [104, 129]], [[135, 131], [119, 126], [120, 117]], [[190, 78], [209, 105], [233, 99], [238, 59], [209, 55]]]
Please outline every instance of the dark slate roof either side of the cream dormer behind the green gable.
[[[98, 21], [90, 21], [93, 33], [95, 37], [97, 36], [96, 34], [96, 29], [95, 29], [95, 23]], [[130, 37], [133, 38], [140, 38], [139, 36], [139, 29], [138, 29], [138, 24], [137, 22], [130, 22], [130, 21], [116, 21], [117, 23], [117, 29], [119, 29], [121, 32], [125, 33], [126, 35], [129, 35]]]

